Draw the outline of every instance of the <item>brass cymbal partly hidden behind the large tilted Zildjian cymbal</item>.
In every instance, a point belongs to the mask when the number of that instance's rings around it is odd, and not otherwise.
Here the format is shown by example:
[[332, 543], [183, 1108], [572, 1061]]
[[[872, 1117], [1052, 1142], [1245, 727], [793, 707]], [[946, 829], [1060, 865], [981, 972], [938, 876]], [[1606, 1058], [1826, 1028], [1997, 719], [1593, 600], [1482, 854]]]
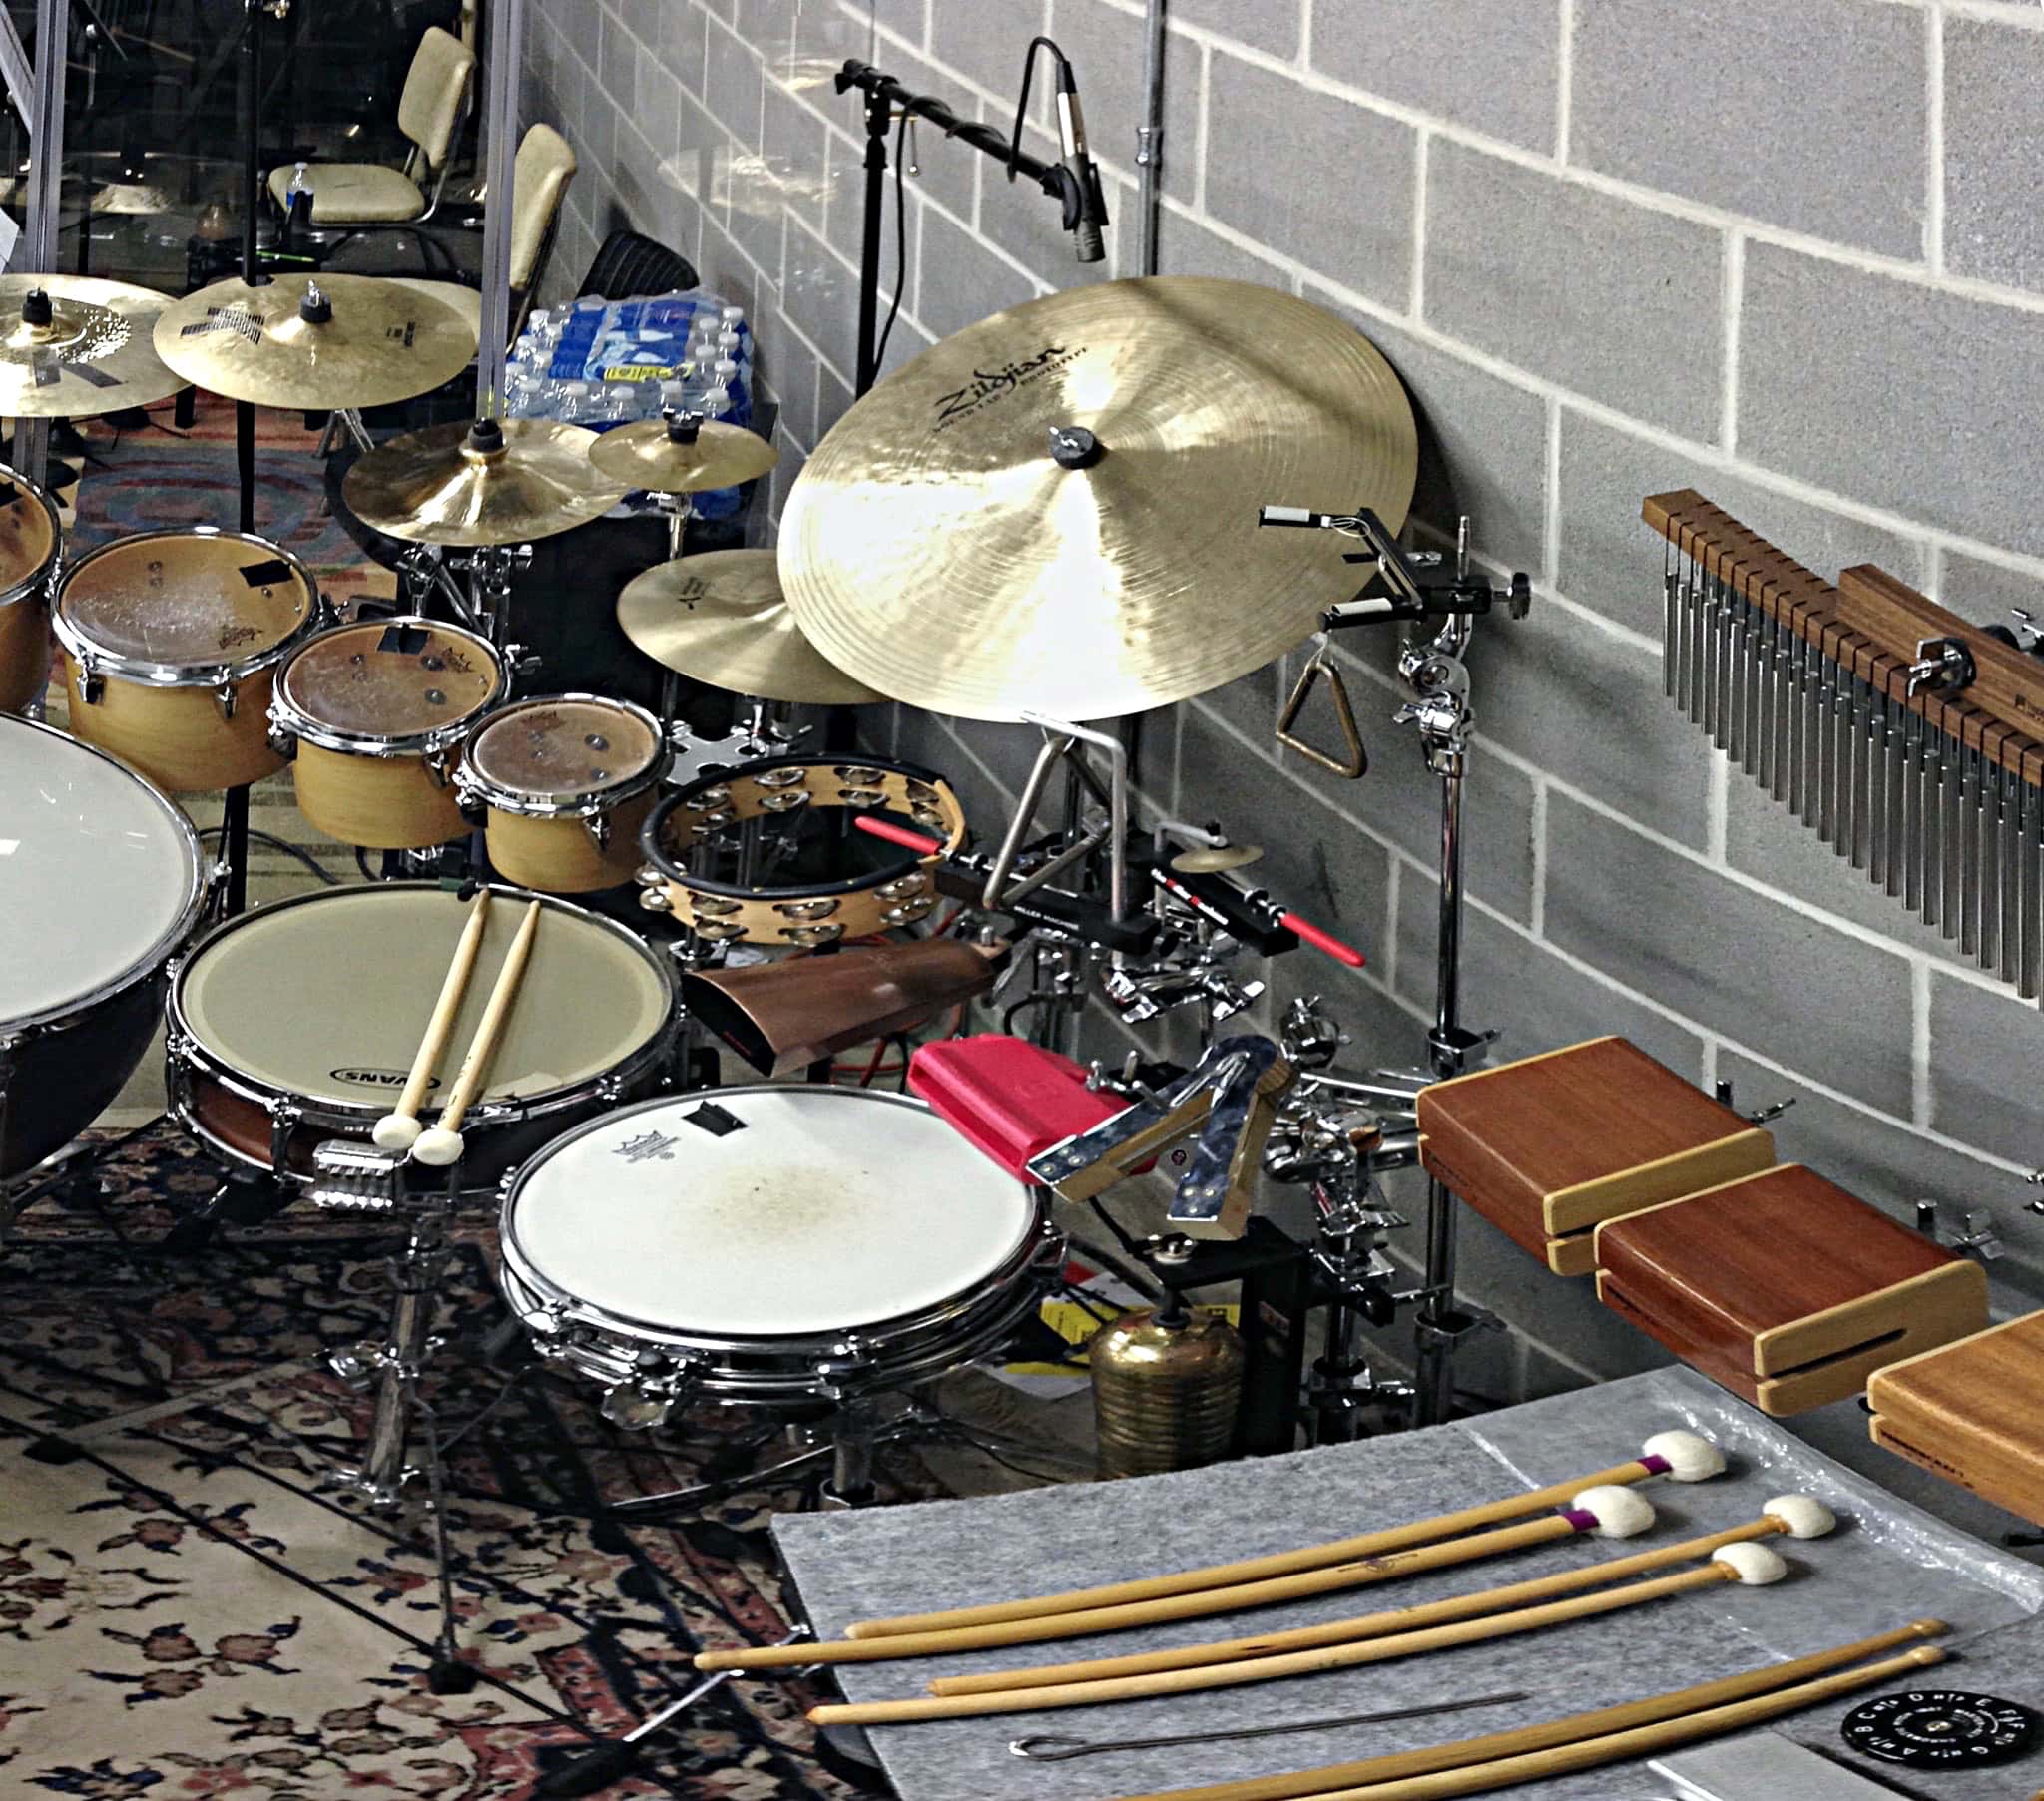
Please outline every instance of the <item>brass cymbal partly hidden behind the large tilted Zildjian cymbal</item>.
[[709, 550], [654, 564], [617, 597], [617, 624], [654, 662], [734, 695], [814, 707], [883, 699], [801, 634], [771, 550]]

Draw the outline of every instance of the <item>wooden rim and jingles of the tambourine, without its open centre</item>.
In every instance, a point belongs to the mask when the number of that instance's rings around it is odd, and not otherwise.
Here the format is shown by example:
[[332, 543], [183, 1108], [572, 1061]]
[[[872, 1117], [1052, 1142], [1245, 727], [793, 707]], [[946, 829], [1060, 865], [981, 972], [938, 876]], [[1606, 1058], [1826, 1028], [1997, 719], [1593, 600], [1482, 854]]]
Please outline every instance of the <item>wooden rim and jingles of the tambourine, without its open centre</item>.
[[[699, 844], [746, 820], [801, 807], [895, 814], [944, 840], [928, 857], [901, 857], [838, 881], [785, 887], [713, 881], [685, 867]], [[672, 912], [703, 938], [752, 944], [834, 944], [912, 926], [936, 906], [934, 867], [965, 844], [965, 810], [940, 775], [914, 763], [769, 756], [675, 791], [646, 822], [642, 902]]]

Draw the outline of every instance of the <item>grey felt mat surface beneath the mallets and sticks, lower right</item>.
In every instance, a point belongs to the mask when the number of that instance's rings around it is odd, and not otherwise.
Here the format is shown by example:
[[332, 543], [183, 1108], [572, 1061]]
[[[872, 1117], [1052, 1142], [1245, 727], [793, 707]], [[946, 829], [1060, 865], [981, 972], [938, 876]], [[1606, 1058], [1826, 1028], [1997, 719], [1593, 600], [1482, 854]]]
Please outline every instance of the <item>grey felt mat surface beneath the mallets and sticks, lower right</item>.
[[[1934, 1672], [1940, 1682], [2044, 1705], [2044, 1668], [2034, 1656], [2044, 1648], [2044, 1631], [2030, 1623], [2030, 1615], [2044, 1609], [2044, 1570], [1970, 1539], [1819, 1458], [1690, 1370], [1660, 1370], [1359, 1445], [983, 1500], [787, 1515], [775, 1521], [775, 1533], [811, 1623], [820, 1635], [838, 1637], [863, 1617], [1253, 1558], [1423, 1519], [1621, 1464], [1637, 1456], [1652, 1433], [1684, 1425], [1723, 1445], [1731, 1470], [1713, 1482], [1656, 1482], [1645, 1488], [1662, 1517], [1641, 1539], [1568, 1539], [1414, 1582], [1257, 1609], [1253, 1615], [963, 1658], [848, 1664], [838, 1678], [848, 1699], [879, 1701], [920, 1695], [924, 1682], [938, 1674], [1114, 1656], [1345, 1619], [1576, 1568], [1586, 1558], [1627, 1556], [1754, 1519], [1768, 1496], [1811, 1492], [1840, 1513], [1842, 1529], [1807, 1543], [1776, 1539], [1795, 1574], [1774, 1588], [1713, 1586], [1523, 1637], [1320, 1676], [1108, 1707], [877, 1727], [873, 1746], [903, 1801], [1102, 1801], [1130, 1791], [1300, 1770], [1502, 1731], [1707, 1682], [1770, 1658], [1805, 1656], [1917, 1617], [1950, 1621], [1958, 1627], [1958, 1644], [1989, 1633], [1968, 1650], [1964, 1664]], [[2013, 1633], [1995, 1631], [2015, 1621], [2026, 1623]], [[2024, 1648], [2032, 1652], [2028, 1658]], [[1024, 1762], [1008, 1752], [1010, 1740], [1026, 1734], [1098, 1740], [1275, 1725], [1504, 1689], [1525, 1689], [1529, 1697], [1451, 1719], [1194, 1750], [1118, 1752], [1067, 1764]], [[1813, 1715], [1791, 1731], [1823, 1742], [1842, 1711], [1836, 1709], [1831, 1719]], [[1829, 1738], [1829, 1744], [1838, 1740]], [[2015, 1770], [2022, 1774], [2003, 1768], [1940, 1776], [1936, 1793], [1950, 1801], [2005, 1801], [2044, 1787], [2044, 1758], [2036, 1774], [2028, 1766]], [[2028, 1785], [2024, 1774], [2030, 1774]], [[1537, 1793], [1545, 1801], [1650, 1801], [1666, 1791], [1666, 1781], [1633, 1764], [1515, 1793]]]

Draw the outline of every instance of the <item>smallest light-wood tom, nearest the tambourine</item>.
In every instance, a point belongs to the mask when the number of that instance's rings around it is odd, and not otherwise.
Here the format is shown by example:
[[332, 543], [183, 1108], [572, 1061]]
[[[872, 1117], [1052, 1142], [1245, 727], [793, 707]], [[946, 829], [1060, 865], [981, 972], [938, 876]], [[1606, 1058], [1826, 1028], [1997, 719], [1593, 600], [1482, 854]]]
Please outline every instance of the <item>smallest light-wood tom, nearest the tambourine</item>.
[[462, 805], [480, 810], [491, 867], [523, 887], [587, 893], [638, 867], [666, 775], [660, 722], [630, 701], [554, 695], [503, 707], [462, 750]]

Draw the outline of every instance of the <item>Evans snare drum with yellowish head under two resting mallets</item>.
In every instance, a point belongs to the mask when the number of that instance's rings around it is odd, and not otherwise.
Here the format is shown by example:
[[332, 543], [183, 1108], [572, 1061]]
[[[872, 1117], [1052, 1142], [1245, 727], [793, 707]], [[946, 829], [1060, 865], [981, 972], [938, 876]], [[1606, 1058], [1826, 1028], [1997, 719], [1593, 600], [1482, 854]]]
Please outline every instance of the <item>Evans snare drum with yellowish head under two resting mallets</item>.
[[[454, 1079], [527, 899], [497, 889], [429, 1094]], [[489, 1086], [462, 1120], [476, 1186], [666, 1071], [668, 959], [568, 902], [542, 908]], [[315, 889], [215, 928], [170, 989], [172, 1108], [221, 1155], [286, 1177], [311, 1173], [321, 1139], [368, 1139], [405, 1088], [466, 922], [450, 889], [392, 881]]]

